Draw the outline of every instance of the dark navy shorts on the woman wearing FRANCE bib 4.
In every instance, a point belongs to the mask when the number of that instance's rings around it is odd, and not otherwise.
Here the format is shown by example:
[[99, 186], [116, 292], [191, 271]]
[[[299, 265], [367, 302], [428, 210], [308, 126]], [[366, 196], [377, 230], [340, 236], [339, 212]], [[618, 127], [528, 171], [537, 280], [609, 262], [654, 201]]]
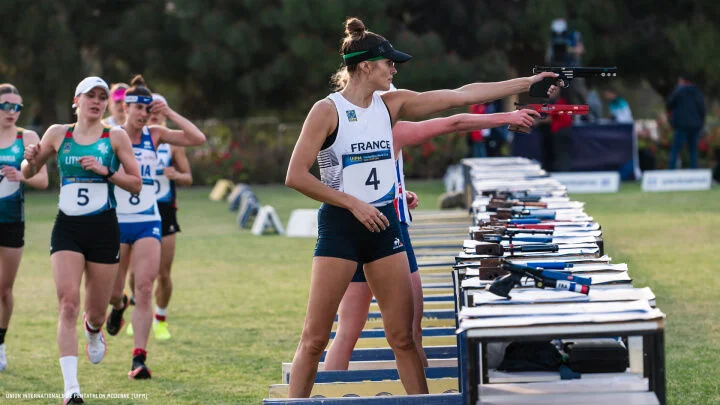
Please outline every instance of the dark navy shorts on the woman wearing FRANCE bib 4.
[[353, 214], [334, 205], [323, 204], [318, 211], [318, 241], [315, 256], [338, 257], [361, 265], [404, 252], [400, 223], [393, 204], [379, 207], [390, 221], [381, 232], [370, 232]]

